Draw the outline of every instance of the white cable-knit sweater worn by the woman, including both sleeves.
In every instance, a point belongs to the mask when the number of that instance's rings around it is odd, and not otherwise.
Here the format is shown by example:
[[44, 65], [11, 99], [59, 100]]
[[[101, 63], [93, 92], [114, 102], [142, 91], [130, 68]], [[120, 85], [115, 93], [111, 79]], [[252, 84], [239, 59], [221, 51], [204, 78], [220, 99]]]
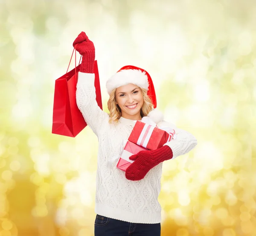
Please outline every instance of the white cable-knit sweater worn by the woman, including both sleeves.
[[[139, 181], [126, 179], [125, 172], [116, 168], [117, 160], [112, 168], [107, 165], [110, 159], [120, 155], [122, 143], [128, 140], [134, 127], [134, 120], [121, 117], [117, 124], [108, 122], [109, 115], [96, 102], [94, 74], [79, 72], [76, 101], [87, 125], [99, 140], [95, 212], [132, 223], [159, 223], [161, 206], [157, 198], [161, 188], [162, 163]], [[169, 123], [169, 126], [177, 133], [176, 139], [166, 143], [172, 148], [172, 159], [195, 147], [197, 140], [192, 134], [173, 124]]]

